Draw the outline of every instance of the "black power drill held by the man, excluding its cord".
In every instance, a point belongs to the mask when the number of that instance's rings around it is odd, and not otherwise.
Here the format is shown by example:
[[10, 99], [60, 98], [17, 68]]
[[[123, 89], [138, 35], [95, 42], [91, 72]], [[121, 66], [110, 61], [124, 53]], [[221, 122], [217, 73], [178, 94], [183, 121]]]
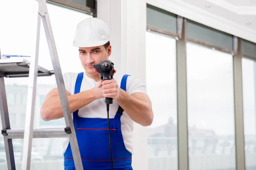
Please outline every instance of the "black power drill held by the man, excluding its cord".
[[[113, 75], [116, 72], [114, 69], [114, 63], [110, 60], [102, 60], [99, 64], [94, 64], [93, 68], [95, 71], [99, 73], [99, 77], [101, 80], [113, 79]], [[106, 97], [106, 104], [112, 104], [113, 99]]]

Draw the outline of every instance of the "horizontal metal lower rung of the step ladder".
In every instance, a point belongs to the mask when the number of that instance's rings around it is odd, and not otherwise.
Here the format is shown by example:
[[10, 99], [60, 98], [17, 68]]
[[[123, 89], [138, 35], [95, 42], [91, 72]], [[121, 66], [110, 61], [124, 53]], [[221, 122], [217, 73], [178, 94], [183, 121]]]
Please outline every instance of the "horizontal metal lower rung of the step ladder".
[[[8, 139], [23, 139], [24, 129], [10, 129], [6, 130]], [[63, 128], [44, 128], [44, 129], [34, 129], [33, 138], [63, 138], [68, 137], [68, 134]]]

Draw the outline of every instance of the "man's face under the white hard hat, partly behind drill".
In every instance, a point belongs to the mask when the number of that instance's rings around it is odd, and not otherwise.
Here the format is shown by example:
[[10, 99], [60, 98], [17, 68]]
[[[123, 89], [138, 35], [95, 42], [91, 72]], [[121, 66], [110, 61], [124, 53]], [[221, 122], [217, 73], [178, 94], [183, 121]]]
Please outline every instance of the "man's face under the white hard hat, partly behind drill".
[[97, 47], [79, 47], [79, 58], [87, 74], [98, 74], [93, 64], [108, 60], [111, 55], [111, 45], [106, 49], [103, 45]]

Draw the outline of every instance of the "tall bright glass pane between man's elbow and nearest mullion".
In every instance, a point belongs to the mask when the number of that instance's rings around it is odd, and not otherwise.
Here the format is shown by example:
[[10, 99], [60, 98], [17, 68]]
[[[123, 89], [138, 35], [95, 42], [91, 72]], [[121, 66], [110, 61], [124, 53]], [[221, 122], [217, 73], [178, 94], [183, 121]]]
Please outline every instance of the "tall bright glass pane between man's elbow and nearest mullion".
[[146, 85], [154, 112], [148, 127], [148, 170], [177, 170], [175, 39], [146, 32]]

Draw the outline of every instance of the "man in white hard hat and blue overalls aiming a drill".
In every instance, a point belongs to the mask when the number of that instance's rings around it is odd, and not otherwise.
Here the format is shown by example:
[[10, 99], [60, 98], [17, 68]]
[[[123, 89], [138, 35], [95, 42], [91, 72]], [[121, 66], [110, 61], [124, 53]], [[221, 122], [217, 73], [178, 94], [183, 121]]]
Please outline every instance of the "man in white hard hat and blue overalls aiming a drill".
[[[133, 124], [149, 126], [153, 121], [145, 85], [137, 77], [118, 71], [114, 79], [100, 80], [93, 64], [108, 60], [111, 55], [108, 26], [102, 20], [90, 17], [81, 21], [76, 27], [73, 45], [78, 47], [85, 71], [65, 73], [63, 77], [83, 167], [85, 170], [111, 170], [113, 163], [114, 170], [132, 170]], [[109, 108], [113, 162], [105, 97], [113, 98]], [[47, 94], [41, 117], [45, 121], [63, 117], [57, 88]], [[68, 139], [64, 143], [64, 167], [75, 170]]]

